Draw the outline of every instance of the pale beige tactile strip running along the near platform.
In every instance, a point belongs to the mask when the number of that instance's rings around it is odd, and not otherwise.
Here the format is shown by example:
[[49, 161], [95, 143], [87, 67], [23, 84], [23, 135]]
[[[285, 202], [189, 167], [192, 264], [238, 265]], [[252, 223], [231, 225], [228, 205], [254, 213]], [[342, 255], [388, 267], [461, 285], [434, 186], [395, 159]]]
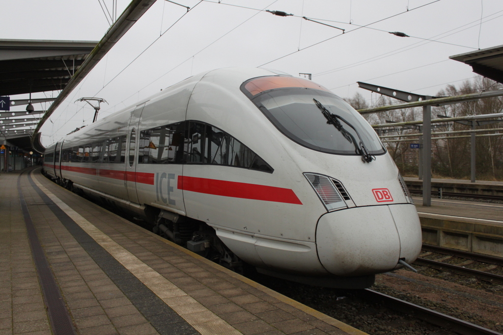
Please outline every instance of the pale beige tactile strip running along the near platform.
[[35, 177], [33, 171], [32, 178], [37, 186], [63, 210], [77, 225], [89, 234], [99, 245], [119, 261], [136, 278], [145, 284], [162, 301], [170, 306], [175, 312], [183, 317], [202, 335], [239, 335], [241, 332], [233, 328], [230, 324], [222, 320], [218, 315], [204, 307], [197, 300], [178, 288], [175, 284], [164, 278], [154, 269], [143, 263], [136, 256], [121, 247], [110, 237], [96, 228], [91, 222], [86, 220], [66, 203], [61, 201], [56, 195], [45, 188]]

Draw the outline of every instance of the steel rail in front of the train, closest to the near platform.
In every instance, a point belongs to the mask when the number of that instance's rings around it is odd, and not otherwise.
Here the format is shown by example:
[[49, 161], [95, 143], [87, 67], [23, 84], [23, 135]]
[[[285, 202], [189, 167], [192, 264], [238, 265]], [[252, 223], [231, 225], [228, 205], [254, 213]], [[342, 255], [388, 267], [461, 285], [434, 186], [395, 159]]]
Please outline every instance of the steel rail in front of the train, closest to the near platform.
[[450, 329], [462, 335], [501, 335], [500, 332], [368, 288], [359, 290], [356, 294], [365, 300], [382, 303], [386, 307], [398, 312], [412, 312], [418, 319], [422, 319], [445, 329]]

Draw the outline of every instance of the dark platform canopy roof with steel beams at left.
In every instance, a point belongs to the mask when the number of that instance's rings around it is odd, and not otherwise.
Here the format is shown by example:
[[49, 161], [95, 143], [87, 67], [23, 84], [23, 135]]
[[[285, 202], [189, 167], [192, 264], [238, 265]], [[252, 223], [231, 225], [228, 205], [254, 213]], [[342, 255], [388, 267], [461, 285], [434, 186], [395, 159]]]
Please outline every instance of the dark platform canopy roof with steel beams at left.
[[9, 96], [11, 109], [0, 110], [0, 140], [33, 151], [31, 134], [45, 110], [28, 113], [26, 107], [30, 102], [52, 102], [55, 97], [30, 100], [13, 95], [57, 91], [57, 96], [97, 44], [98, 41], [0, 39], [0, 96]]

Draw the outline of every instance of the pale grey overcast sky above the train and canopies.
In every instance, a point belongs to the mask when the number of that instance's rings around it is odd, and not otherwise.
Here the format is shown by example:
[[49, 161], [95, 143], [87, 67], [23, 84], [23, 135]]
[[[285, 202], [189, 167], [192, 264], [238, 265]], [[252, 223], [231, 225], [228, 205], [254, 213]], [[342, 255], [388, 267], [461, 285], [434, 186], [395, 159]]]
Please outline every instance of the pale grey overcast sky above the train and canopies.
[[[103, 1], [111, 10], [112, 0]], [[157, 0], [56, 109], [42, 128], [44, 145], [92, 122], [94, 109], [74, 102], [83, 96], [109, 102], [102, 105], [103, 118], [202, 71], [261, 66], [295, 76], [311, 73], [337, 95], [359, 91], [371, 103], [375, 95], [357, 81], [435, 95], [448, 83], [475, 76], [449, 56], [503, 44], [501, 0], [174, 2], [191, 10]], [[128, 4], [118, 0], [118, 15]], [[98, 0], [0, 0], [0, 5], [2, 39], [99, 41], [110, 27]]]

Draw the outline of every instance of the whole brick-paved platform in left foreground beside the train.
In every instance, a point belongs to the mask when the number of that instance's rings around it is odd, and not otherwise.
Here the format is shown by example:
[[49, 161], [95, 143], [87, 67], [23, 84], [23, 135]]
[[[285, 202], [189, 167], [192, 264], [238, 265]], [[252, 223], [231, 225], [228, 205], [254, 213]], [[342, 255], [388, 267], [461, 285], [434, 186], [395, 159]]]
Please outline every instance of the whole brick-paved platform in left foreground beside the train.
[[365, 334], [59, 187], [0, 175], [0, 334]]

